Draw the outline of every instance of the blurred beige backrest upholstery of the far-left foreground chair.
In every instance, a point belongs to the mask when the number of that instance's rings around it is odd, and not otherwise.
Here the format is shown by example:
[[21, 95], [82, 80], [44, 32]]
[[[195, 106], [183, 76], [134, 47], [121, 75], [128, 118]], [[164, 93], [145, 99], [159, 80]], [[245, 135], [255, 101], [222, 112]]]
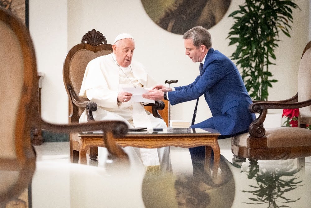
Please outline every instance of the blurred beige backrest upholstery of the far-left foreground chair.
[[23, 55], [14, 32], [0, 22], [0, 156], [16, 158], [15, 125], [23, 87]]

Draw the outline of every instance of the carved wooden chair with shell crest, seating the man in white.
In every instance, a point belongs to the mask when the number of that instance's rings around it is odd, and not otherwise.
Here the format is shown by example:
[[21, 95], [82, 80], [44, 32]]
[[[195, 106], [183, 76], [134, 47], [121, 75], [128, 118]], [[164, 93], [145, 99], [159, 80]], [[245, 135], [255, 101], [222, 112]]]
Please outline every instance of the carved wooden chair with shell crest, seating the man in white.
[[[87, 32], [83, 36], [81, 43], [69, 50], [63, 67], [63, 80], [69, 98], [69, 123], [78, 122], [85, 108], [87, 109], [87, 120], [94, 120], [92, 112], [96, 111], [97, 104], [87, 98], [78, 96], [84, 72], [86, 65], [92, 59], [108, 55], [112, 52], [112, 45], [107, 44], [105, 36], [95, 29]], [[152, 114], [162, 119], [158, 110], [164, 109], [165, 105], [163, 101], [156, 101], [155, 104], [151, 103], [146, 106], [151, 106]], [[69, 138], [71, 162], [77, 163], [79, 158], [79, 137], [77, 133], [71, 133]], [[90, 156], [90, 162], [97, 161], [97, 147], [91, 147], [87, 153]]]

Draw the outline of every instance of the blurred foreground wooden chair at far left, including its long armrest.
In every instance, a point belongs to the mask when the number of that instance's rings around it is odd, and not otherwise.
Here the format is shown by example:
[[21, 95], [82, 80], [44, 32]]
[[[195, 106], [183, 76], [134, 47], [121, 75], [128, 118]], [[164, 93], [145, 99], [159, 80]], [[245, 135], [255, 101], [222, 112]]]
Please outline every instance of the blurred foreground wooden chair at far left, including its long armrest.
[[36, 162], [30, 141], [32, 128], [58, 133], [104, 131], [110, 158], [128, 164], [127, 155], [114, 143], [114, 135], [127, 133], [126, 123], [57, 125], [43, 121], [38, 113], [37, 68], [29, 31], [18, 17], [3, 8], [0, 8], [0, 36], [0, 206], [18, 197], [31, 182]]

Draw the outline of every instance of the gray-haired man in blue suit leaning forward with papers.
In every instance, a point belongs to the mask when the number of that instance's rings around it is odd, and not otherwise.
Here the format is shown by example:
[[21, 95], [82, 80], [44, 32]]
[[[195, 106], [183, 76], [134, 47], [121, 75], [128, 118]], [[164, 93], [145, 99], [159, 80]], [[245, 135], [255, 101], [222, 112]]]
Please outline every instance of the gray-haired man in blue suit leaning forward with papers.
[[[196, 108], [191, 128], [213, 128], [220, 132], [219, 138], [229, 138], [248, 132], [249, 124], [255, 115], [248, 111], [252, 103], [241, 75], [234, 63], [225, 55], [211, 47], [211, 35], [204, 27], [197, 26], [184, 35], [186, 55], [193, 62], [201, 62], [200, 75], [187, 86], [167, 88], [156, 85], [148, 99], [167, 99], [171, 105], [204, 98], [211, 110], [212, 117], [194, 124]], [[204, 170], [205, 148], [189, 148], [193, 169]], [[203, 169], [202, 169], [203, 168]]]

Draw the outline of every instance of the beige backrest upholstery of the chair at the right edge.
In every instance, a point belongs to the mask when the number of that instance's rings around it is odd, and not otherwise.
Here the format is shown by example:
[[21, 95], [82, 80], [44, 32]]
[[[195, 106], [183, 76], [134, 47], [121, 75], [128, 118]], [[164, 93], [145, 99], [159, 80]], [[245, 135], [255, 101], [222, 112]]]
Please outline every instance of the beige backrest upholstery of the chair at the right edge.
[[[311, 48], [301, 58], [298, 73], [298, 101], [311, 99]], [[303, 117], [311, 117], [311, 106], [299, 109]]]

